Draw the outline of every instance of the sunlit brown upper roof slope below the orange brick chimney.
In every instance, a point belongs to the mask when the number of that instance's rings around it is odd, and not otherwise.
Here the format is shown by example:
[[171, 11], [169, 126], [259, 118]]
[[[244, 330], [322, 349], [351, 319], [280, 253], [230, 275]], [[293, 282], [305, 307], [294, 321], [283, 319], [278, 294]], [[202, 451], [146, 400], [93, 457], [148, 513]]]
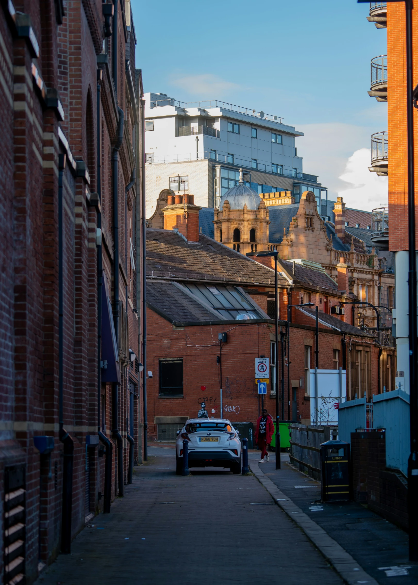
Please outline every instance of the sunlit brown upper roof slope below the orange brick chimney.
[[[146, 229], [147, 276], [232, 283], [274, 284], [274, 271], [200, 234], [186, 242], [174, 230]], [[279, 285], [288, 284], [279, 275]]]

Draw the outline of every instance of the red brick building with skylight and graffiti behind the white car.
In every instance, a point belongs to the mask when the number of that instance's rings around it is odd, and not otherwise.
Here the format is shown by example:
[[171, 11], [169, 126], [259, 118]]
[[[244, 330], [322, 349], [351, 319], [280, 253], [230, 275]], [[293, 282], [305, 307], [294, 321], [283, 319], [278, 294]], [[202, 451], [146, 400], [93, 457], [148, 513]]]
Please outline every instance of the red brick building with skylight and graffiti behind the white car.
[[[218, 417], [220, 388], [224, 417], [255, 422], [261, 408], [254, 374], [259, 356], [271, 360], [266, 405], [275, 412], [272, 259], [244, 256], [198, 233], [193, 218], [200, 208], [172, 197], [167, 195], [169, 205], [163, 208], [166, 229], [146, 230], [148, 421], [150, 437], [157, 440], [173, 440], [203, 400], [209, 415]], [[279, 260], [279, 326], [285, 332], [289, 303], [317, 305], [320, 368], [347, 367], [348, 397], [370, 398], [379, 392], [379, 347], [372, 335], [351, 324], [351, 311], [340, 311], [340, 302], [354, 295], [348, 292], [347, 265], [337, 270], [338, 284], [318, 263]], [[310, 423], [315, 315], [292, 308], [290, 316], [284, 418]], [[218, 340], [220, 333], [227, 334], [226, 342]]]

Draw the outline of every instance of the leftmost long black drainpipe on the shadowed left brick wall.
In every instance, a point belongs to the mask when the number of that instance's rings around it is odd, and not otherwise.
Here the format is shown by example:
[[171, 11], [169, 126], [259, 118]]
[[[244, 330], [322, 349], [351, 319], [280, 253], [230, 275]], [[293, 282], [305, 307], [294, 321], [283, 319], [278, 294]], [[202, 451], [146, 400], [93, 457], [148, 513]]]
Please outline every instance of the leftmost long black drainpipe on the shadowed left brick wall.
[[73, 508], [74, 441], [64, 429], [64, 286], [63, 286], [63, 175], [66, 155], [59, 155], [58, 170], [58, 347], [59, 347], [59, 426], [64, 445], [63, 510], [61, 521], [61, 552], [71, 552], [71, 512]]

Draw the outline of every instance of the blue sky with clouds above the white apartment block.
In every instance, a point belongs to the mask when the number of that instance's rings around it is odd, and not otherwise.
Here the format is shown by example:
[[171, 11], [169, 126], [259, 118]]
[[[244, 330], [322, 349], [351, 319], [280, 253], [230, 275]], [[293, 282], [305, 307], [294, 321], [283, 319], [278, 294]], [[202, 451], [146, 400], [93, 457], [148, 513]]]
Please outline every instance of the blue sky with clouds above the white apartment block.
[[366, 169], [371, 133], [387, 128], [386, 104], [367, 94], [370, 60], [386, 53], [386, 30], [366, 20], [368, 4], [131, 0], [131, 6], [145, 91], [282, 116], [305, 133], [297, 140], [304, 170], [318, 174], [331, 197], [342, 194], [351, 207], [365, 207], [365, 197], [369, 207], [387, 199], [385, 178]]

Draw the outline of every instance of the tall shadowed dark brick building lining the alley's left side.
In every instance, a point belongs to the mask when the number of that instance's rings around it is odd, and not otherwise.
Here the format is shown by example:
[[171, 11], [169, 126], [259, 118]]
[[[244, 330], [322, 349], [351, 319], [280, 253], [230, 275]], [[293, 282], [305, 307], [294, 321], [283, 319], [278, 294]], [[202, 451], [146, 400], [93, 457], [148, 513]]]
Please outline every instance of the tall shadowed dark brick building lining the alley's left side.
[[129, 1], [2, 6], [0, 567], [30, 583], [142, 456], [143, 91]]

